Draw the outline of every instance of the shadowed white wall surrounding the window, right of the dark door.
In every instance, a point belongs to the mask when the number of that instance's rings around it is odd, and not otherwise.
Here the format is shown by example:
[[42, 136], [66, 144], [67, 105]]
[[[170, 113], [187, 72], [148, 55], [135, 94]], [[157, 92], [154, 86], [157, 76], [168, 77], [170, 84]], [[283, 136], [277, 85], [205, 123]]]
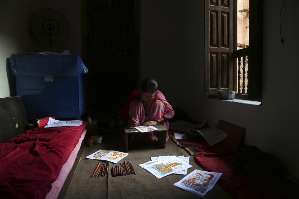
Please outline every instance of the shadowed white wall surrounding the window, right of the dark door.
[[156, 78], [173, 107], [211, 127], [223, 119], [246, 128], [245, 143], [278, 159], [299, 178], [298, 39], [299, 1], [282, 9], [264, 1], [263, 98], [261, 106], [208, 99], [204, 94], [204, 1], [141, 1], [141, 78]]

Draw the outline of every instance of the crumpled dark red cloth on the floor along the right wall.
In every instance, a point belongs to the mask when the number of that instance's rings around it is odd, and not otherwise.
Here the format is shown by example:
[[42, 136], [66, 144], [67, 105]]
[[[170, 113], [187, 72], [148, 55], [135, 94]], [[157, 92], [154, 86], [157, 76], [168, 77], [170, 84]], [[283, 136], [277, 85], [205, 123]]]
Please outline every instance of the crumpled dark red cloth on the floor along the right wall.
[[221, 187], [235, 198], [298, 198], [299, 186], [279, 174], [249, 174], [236, 162], [236, 154], [218, 155], [199, 152], [195, 155], [206, 171], [222, 173], [218, 180]]

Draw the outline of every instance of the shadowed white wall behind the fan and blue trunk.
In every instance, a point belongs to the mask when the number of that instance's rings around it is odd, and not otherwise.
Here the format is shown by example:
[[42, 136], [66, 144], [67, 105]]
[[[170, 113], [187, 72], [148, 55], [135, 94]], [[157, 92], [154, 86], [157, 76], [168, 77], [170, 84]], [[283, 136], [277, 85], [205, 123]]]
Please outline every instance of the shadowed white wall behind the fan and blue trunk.
[[52, 51], [81, 56], [81, 1], [60, 0], [2, 0], [0, 1], [0, 98], [9, 97], [6, 74], [6, 58], [12, 54], [50, 50], [38, 44], [30, 35], [31, 16], [44, 8], [52, 8], [64, 14], [69, 21], [68, 39]]

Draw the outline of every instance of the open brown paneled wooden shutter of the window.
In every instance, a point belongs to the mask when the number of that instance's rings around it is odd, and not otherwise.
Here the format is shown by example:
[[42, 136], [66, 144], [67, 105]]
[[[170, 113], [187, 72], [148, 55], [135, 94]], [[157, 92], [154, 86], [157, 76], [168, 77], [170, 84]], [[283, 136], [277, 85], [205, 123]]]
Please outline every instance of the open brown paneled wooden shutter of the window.
[[233, 0], [205, 1], [205, 93], [233, 90]]

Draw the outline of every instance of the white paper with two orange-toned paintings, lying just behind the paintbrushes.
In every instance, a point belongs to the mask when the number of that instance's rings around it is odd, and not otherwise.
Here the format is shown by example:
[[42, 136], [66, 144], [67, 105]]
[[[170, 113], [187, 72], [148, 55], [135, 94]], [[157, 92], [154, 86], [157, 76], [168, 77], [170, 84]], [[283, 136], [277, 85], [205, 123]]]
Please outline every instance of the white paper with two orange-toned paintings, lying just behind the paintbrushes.
[[91, 155], [88, 155], [87, 158], [94, 160], [107, 160], [109, 162], [117, 163], [119, 160], [123, 159], [129, 155], [128, 153], [119, 152], [116, 150], [98, 150]]

